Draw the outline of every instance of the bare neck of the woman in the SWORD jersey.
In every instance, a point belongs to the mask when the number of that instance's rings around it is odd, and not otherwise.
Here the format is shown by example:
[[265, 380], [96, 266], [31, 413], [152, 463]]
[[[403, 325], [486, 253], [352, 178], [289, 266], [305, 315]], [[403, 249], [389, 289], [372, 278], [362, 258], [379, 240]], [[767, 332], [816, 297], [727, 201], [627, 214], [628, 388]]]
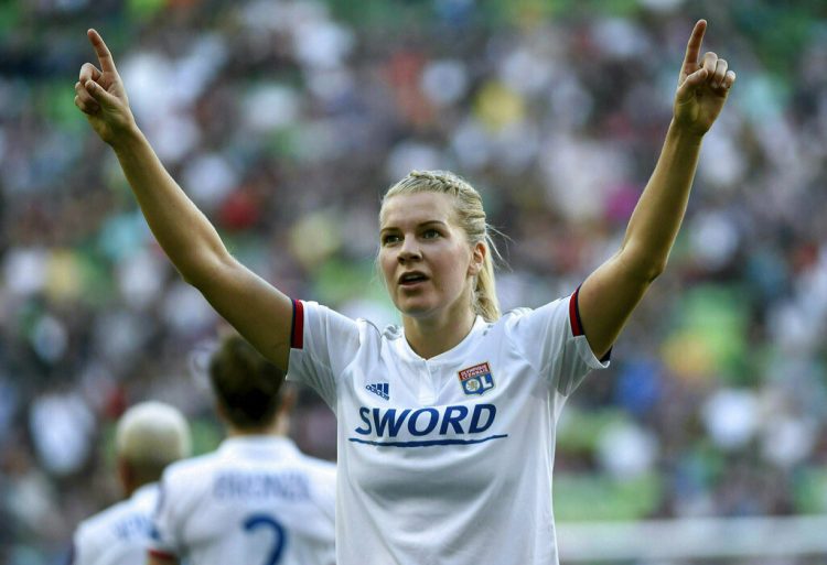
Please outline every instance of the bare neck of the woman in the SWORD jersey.
[[402, 326], [410, 348], [423, 359], [430, 359], [465, 339], [475, 319], [473, 312], [463, 308], [461, 314], [445, 313], [440, 317], [402, 316]]

